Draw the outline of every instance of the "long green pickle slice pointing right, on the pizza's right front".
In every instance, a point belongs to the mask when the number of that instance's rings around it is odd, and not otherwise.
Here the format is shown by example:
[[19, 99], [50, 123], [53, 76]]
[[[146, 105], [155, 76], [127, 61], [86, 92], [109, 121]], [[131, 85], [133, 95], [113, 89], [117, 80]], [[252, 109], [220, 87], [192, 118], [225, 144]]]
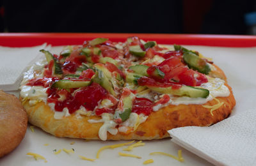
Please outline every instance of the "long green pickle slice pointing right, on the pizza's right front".
[[170, 87], [155, 87], [155, 86], [147, 86], [152, 91], [156, 91], [158, 93], [164, 94], [173, 94], [177, 96], [189, 96], [191, 98], [207, 98], [209, 96], [209, 90], [192, 87], [192, 86], [182, 86], [179, 89], [172, 89]]

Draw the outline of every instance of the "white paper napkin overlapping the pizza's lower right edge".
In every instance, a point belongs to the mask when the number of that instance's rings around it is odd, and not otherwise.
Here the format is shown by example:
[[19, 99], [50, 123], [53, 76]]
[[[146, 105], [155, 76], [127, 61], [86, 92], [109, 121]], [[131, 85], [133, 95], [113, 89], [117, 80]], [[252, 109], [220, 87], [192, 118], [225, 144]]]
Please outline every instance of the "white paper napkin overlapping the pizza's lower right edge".
[[256, 165], [256, 108], [210, 127], [168, 131], [172, 141], [214, 165]]

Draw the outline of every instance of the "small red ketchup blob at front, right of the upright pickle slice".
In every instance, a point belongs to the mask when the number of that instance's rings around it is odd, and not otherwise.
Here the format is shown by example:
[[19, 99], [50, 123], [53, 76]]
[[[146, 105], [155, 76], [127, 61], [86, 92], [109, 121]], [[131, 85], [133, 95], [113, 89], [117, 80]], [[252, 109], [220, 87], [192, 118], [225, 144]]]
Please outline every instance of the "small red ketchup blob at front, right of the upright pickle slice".
[[132, 105], [132, 112], [148, 116], [152, 112], [153, 102], [147, 98], [135, 98]]

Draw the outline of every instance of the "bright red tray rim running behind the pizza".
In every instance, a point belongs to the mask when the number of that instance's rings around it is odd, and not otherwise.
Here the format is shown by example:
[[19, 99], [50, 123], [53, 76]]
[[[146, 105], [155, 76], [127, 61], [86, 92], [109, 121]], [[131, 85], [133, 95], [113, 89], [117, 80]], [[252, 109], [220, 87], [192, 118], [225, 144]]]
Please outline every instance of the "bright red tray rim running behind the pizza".
[[0, 45], [8, 47], [31, 47], [49, 43], [57, 45], [80, 45], [84, 40], [109, 38], [125, 41], [129, 36], [143, 40], [155, 40], [162, 44], [207, 45], [220, 47], [253, 47], [256, 36], [212, 34], [135, 34], [135, 33], [0, 33]]

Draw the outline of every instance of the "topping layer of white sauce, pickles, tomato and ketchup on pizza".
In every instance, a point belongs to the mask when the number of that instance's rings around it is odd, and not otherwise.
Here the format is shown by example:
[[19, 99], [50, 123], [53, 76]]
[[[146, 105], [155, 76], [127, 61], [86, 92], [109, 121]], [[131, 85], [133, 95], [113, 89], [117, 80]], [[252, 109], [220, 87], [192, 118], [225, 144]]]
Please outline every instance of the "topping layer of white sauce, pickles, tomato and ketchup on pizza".
[[200, 53], [174, 48], [134, 36], [125, 43], [84, 41], [65, 47], [59, 56], [40, 50], [47, 64], [31, 67], [20, 96], [30, 105], [47, 103], [56, 119], [74, 112], [77, 118], [99, 116], [90, 123], [103, 123], [99, 137], [106, 140], [108, 132], [136, 131], [152, 111], [167, 105], [202, 104], [229, 95], [224, 80], [207, 76], [214, 66]]

